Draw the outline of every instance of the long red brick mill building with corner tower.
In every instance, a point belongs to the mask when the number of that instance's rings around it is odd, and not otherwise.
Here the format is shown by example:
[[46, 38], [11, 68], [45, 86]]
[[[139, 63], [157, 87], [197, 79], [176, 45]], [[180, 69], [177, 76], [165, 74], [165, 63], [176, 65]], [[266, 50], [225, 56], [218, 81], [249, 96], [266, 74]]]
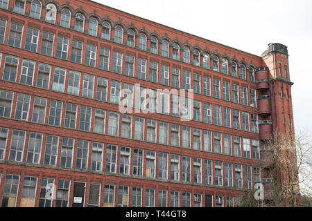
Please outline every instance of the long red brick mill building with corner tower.
[[0, 204], [234, 206], [270, 186], [261, 140], [293, 133], [292, 84], [281, 44], [256, 56], [93, 1], [1, 0]]

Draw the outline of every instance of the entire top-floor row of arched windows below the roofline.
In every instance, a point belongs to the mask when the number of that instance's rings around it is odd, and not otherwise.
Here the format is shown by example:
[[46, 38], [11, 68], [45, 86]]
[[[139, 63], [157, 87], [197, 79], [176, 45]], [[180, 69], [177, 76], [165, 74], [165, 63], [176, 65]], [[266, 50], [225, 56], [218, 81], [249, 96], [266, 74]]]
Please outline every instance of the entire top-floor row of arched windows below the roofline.
[[[11, 0], [13, 1], [13, 0]], [[14, 0], [15, 8], [14, 11], [24, 14], [26, 8], [26, 0]], [[43, 0], [42, 0], [43, 1]], [[0, 8], [8, 8], [9, 0], [0, 0]], [[51, 3], [53, 2], [53, 3]], [[57, 16], [57, 7], [55, 6], [55, 1], [46, 1], [46, 18], [45, 20], [49, 23], [56, 22]], [[57, 4], [57, 3], [56, 3]], [[74, 20], [71, 20], [71, 14], [74, 15]], [[85, 31], [85, 12], [80, 10], [73, 10], [70, 6], [62, 6], [62, 10], [60, 11], [60, 26], [64, 28], [71, 28], [73, 26], [74, 30], [79, 32]], [[39, 0], [31, 1], [31, 12], [30, 16], [35, 19], [40, 19], [42, 13], [42, 2]], [[88, 30], [87, 33], [89, 35], [98, 36], [98, 21], [102, 20], [97, 15], [89, 15], [88, 17]], [[71, 24], [74, 22], [74, 24]], [[112, 38], [112, 29], [114, 28], [114, 38]], [[124, 33], [126, 31], [126, 33]], [[127, 46], [135, 47], [136, 46], [136, 35], [139, 38], [139, 44], [137, 47], [141, 50], [147, 50], [147, 32], [144, 30], [143, 32], [138, 32], [135, 27], [125, 28], [125, 26], [121, 22], [117, 22], [114, 24], [110, 19], [103, 19], [102, 27], [101, 27], [101, 37], [107, 40], [113, 40], [116, 43], [123, 44], [126, 42]], [[136, 34], [137, 33], [137, 34]], [[157, 34], [152, 33], [150, 37], [150, 52], [155, 54], [160, 54], [164, 57], [169, 57], [169, 41], [167, 37], [157, 37]], [[124, 38], [126, 36], [126, 41]], [[159, 40], [160, 39], [160, 40]], [[211, 53], [208, 51], [204, 51], [200, 53], [200, 48], [193, 48], [191, 55], [191, 46], [178, 44], [173, 41], [172, 44], [172, 58], [183, 61], [189, 64], [193, 64], [195, 66], [202, 66], [203, 68], [208, 68], [211, 70], [215, 70], [218, 72], [222, 72], [224, 74], [231, 74], [234, 77], [239, 77], [238, 73], [240, 73], [241, 79], [249, 79], [250, 81], [254, 81], [254, 67], [251, 64], [248, 67], [248, 71], [246, 70], [247, 64], [243, 64], [245, 62], [234, 61], [234, 59], [225, 58], [225, 56], [221, 57], [218, 53]], [[182, 48], [180, 48], [182, 45]], [[161, 48], [158, 48], [158, 47]], [[182, 56], [180, 56], [180, 52], [182, 52]], [[201, 56], [202, 54], [202, 56]], [[209, 55], [210, 54], [210, 55]], [[211, 64], [210, 67], [210, 57]], [[239, 64], [239, 65], [238, 65]], [[248, 75], [248, 73], [249, 75]]]

